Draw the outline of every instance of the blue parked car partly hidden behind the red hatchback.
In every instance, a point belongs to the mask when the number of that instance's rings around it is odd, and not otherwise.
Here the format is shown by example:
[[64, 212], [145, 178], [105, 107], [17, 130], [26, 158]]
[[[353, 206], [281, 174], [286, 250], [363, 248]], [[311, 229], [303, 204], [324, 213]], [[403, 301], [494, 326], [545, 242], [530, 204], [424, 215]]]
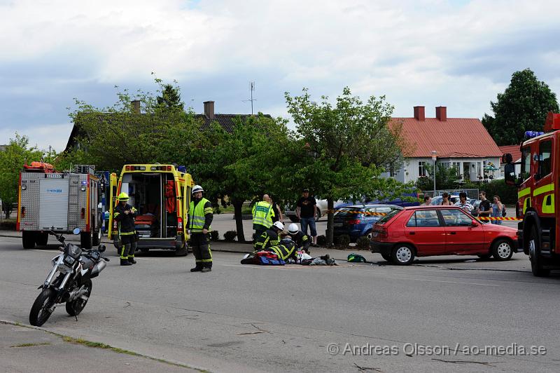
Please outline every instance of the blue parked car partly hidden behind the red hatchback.
[[382, 215], [388, 214], [393, 210], [402, 210], [395, 205], [349, 205], [337, 208], [335, 211], [335, 226], [333, 234], [335, 237], [347, 234], [352, 242], [358, 238], [366, 236], [371, 240], [373, 224]]

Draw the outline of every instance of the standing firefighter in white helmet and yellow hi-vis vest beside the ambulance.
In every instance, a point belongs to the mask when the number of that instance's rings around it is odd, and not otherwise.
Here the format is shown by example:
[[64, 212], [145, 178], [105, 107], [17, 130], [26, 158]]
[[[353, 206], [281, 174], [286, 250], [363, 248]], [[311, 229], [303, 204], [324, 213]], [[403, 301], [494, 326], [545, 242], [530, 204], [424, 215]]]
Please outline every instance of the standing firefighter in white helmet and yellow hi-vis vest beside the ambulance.
[[210, 250], [209, 231], [214, 218], [212, 204], [202, 198], [202, 186], [193, 187], [193, 201], [188, 209], [187, 226], [190, 229], [190, 245], [196, 259], [195, 268], [191, 272], [210, 272], [212, 270], [212, 252]]

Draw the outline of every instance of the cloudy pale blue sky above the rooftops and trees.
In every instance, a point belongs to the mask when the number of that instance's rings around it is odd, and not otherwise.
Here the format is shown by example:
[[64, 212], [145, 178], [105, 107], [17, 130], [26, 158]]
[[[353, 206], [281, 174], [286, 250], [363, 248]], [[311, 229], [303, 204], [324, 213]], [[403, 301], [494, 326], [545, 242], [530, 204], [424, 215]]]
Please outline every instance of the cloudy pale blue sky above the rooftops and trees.
[[74, 98], [177, 81], [195, 112], [289, 118], [284, 93], [386, 96], [393, 116], [482, 118], [530, 68], [560, 93], [560, 1], [0, 0], [0, 144], [64, 150]]

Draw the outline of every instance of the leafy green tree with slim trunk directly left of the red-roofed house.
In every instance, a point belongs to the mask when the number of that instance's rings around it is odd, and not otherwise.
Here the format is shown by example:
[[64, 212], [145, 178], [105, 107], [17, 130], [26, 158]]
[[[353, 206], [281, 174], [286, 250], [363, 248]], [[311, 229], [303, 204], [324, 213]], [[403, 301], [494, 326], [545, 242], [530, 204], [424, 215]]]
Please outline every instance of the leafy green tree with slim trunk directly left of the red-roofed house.
[[288, 112], [297, 126], [297, 141], [290, 148], [293, 188], [303, 185], [328, 201], [327, 243], [332, 245], [333, 207], [338, 199], [401, 196], [406, 186], [379, 177], [389, 163], [402, 164], [407, 149], [402, 126], [390, 126], [393, 106], [385, 97], [362, 102], [344, 88], [336, 106], [322, 96], [311, 102], [307, 89], [301, 96], [286, 93]]

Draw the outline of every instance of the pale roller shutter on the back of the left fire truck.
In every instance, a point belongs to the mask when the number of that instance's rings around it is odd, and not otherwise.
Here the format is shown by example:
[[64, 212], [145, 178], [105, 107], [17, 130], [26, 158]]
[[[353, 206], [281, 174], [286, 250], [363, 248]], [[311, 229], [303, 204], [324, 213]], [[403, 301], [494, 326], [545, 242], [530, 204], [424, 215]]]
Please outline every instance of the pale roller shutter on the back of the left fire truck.
[[68, 179], [39, 179], [39, 229], [68, 229]]

